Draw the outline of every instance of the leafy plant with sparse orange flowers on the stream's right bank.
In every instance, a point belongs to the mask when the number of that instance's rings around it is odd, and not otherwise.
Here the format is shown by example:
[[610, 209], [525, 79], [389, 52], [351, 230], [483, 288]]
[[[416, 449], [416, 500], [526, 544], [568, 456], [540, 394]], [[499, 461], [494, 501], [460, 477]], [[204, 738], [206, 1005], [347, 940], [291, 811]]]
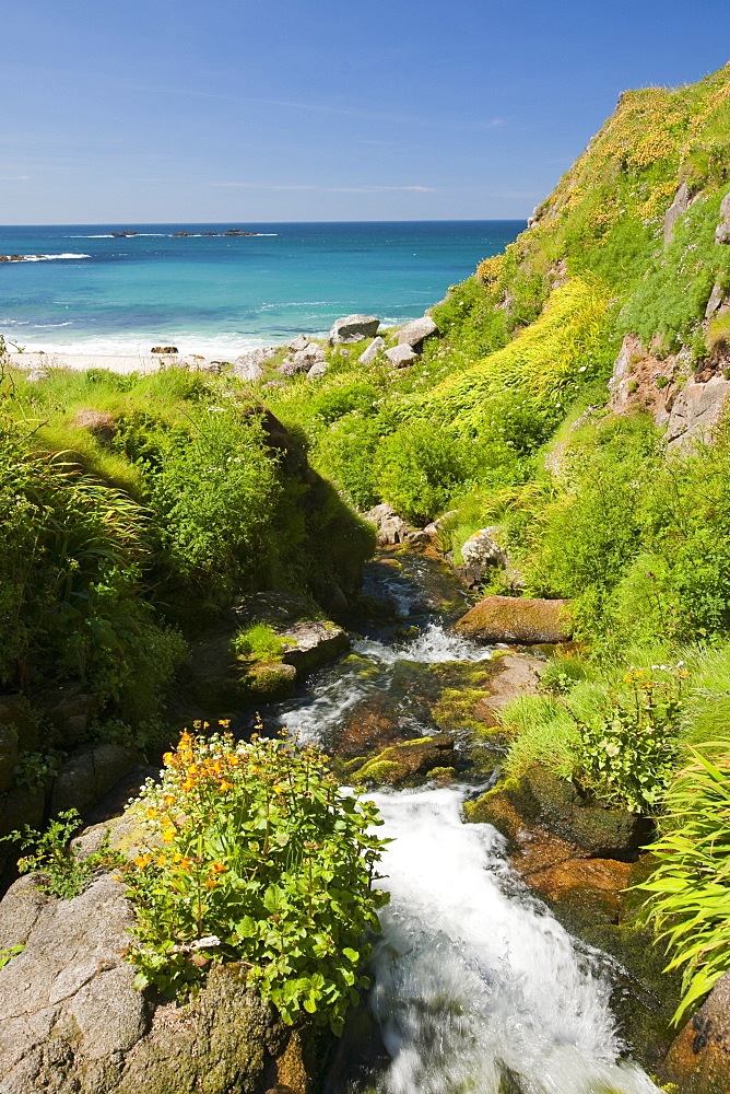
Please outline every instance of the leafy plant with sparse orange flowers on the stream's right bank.
[[632, 668], [623, 678], [628, 695], [608, 691], [603, 719], [578, 721], [578, 781], [603, 802], [634, 813], [655, 813], [663, 803], [675, 767], [682, 712], [681, 666]]

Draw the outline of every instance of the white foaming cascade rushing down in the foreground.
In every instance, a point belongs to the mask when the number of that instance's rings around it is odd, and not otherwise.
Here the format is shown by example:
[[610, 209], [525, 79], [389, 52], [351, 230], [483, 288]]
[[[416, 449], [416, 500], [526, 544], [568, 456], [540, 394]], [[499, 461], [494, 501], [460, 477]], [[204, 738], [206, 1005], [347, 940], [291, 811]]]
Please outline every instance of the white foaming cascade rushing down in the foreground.
[[502, 837], [462, 823], [463, 792], [368, 796], [393, 839], [372, 996], [389, 1094], [654, 1094], [638, 1067], [616, 1062], [608, 985], [516, 892]]

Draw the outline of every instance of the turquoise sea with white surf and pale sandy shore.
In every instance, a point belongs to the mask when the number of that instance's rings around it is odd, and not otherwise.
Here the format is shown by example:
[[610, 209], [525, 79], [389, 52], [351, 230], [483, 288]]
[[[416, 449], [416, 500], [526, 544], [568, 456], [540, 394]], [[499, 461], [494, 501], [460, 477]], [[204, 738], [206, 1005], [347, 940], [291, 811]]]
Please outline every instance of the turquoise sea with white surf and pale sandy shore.
[[[224, 236], [228, 229], [255, 236]], [[231, 359], [365, 312], [423, 314], [523, 221], [0, 228], [0, 334], [28, 350]], [[140, 234], [115, 238], [111, 232]], [[175, 232], [189, 236], [175, 237]], [[217, 235], [203, 235], [216, 232]]]

